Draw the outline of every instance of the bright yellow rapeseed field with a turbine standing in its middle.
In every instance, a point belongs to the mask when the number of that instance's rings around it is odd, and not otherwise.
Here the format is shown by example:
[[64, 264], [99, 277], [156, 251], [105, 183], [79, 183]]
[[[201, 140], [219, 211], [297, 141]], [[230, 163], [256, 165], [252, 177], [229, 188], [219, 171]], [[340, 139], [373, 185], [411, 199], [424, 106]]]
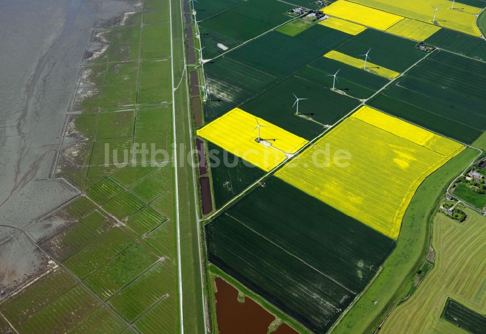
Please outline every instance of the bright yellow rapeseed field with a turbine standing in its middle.
[[[257, 119], [261, 125], [260, 139], [267, 139], [271, 146], [258, 143]], [[270, 171], [294, 154], [307, 140], [235, 108], [213, 120], [197, 131], [197, 135], [213, 142], [228, 152]], [[272, 139], [272, 140], [271, 140]], [[273, 141], [275, 139], [275, 141]]]

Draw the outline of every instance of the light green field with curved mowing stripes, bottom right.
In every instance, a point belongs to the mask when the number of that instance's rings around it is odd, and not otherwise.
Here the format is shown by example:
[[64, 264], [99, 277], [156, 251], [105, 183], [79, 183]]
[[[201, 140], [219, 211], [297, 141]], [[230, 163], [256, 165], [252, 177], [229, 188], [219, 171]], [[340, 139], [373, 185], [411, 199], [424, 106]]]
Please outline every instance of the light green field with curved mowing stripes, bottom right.
[[408, 300], [386, 319], [380, 333], [466, 333], [442, 324], [448, 297], [480, 314], [486, 313], [486, 218], [465, 209], [458, 223], [444, 215], [434, 218], [432, 245], [435, 266]]

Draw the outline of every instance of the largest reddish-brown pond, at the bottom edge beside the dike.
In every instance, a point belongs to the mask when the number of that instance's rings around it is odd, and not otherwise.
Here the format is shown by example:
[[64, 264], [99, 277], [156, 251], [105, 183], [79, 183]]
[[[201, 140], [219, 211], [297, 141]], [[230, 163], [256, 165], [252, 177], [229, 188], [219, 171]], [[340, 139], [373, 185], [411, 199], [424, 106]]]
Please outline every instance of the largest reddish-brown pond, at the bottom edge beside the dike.
[[[238, 301], [238, 290], [216, 278], [216, 317], [220, 334], [267, 334], [275, 317], [249, 298]], [[281, 326], [280, 326], [281, 327]]]

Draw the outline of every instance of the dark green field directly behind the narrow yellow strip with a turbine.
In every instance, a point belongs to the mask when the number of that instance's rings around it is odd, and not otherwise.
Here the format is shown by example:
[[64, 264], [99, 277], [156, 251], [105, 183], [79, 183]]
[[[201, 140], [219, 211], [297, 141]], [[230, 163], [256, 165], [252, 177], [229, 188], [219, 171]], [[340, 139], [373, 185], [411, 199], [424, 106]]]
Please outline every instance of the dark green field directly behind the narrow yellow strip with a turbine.
[[371, 48], [369, 52], [370, 62], [397, 72], [403, 72], [425, 56], [424, 52], [415, 49], [415, 45], [416, 42], [414, 41], [378, 30], [367, 29], [336, 50], [358, 58], [360, 54], [366, 53]]

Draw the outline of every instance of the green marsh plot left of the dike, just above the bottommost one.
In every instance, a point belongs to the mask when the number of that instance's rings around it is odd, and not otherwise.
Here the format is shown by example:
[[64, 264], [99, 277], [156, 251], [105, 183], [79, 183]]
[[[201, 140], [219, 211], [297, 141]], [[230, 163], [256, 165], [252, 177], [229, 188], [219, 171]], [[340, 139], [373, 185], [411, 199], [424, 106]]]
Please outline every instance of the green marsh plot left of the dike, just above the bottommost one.
[[128, 323], [132, 323], [152, 305], [174, 295], [173, 266], [168, 260], [157, 263], [113, 296], [108, 304]]

